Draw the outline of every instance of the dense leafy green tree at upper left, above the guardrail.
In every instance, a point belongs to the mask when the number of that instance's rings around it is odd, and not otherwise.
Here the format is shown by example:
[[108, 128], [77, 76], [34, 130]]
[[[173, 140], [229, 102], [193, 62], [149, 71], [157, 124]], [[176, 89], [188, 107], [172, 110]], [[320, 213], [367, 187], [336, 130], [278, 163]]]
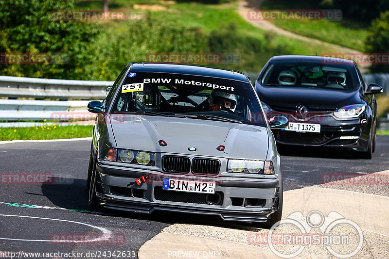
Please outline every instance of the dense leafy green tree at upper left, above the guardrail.
[[[96, 59], [91, 46], [99, 33], [98, 25], [53, 18], [58, 10], [75, 9], [74, 0], [0, 0], [0, 74], [90, 79], [90, 71], [83, 68]], [[9, 59], [4, 60], [4, 53], [29, 53], [33, 57], [34, 53], [47, 53], [50, 58], [42, 64], [10, 64]]]

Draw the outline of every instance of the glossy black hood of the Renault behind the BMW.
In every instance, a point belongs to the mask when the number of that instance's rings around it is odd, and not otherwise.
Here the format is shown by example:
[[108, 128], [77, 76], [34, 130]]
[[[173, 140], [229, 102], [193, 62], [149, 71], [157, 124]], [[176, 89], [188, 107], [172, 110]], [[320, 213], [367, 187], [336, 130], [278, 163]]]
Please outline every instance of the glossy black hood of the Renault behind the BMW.
[[258, 85], [256, 91], [261, 101], [270, 107], [296, 109], [304, 104], [310, 109], [333, 111], [350, 104], [361, 103], [359, 90], [339, 91], [309, 87], [282, 87]]

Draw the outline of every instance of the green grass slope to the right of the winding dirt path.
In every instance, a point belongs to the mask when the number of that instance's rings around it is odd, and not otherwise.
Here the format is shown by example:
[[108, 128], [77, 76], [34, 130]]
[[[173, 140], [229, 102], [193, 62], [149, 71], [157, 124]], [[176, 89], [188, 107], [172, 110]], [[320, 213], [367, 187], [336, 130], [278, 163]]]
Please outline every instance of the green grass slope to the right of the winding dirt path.
[[[316, 3], [317, 4], [317, 3]], [[265, 1], [262, 9], [318, 9], [317, 7], [307, 6], [307, 2], [301, 6], [298, 1]], [[320, 8], [330, 9], [330, 8]], [[324, 42], [333, 43], [350, 49], [364, 51], [364, 41], [369, 33], [368, 23], [358, 20], [342, 18], [340, 21], [329, 20], [279, 20], [271, 21], [286, 31], [295, 32], [303, 36], [315, 38]], [[321, 52], [324, 53], [324, 52]]]

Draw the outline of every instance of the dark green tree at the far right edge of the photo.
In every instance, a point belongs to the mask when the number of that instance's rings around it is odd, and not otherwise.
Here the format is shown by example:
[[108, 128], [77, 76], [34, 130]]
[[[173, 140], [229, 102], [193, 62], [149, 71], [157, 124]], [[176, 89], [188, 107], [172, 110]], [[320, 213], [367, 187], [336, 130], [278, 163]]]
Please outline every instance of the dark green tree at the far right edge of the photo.
[[[367, 53], [389, 53], [389, 11], [382, 12], [371, 22], [365, 41]], [[372, 65], [371, 72], [389, 72], [389, 65]]]

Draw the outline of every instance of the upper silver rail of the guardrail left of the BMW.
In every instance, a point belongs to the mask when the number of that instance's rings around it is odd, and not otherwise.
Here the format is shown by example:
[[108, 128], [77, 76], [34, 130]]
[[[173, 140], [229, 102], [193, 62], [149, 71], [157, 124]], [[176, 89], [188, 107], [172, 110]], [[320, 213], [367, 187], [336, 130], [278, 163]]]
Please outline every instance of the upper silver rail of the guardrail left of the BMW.
[[0, 97], [103, 99], [112, 81], [82, 81], [0, 76]]

